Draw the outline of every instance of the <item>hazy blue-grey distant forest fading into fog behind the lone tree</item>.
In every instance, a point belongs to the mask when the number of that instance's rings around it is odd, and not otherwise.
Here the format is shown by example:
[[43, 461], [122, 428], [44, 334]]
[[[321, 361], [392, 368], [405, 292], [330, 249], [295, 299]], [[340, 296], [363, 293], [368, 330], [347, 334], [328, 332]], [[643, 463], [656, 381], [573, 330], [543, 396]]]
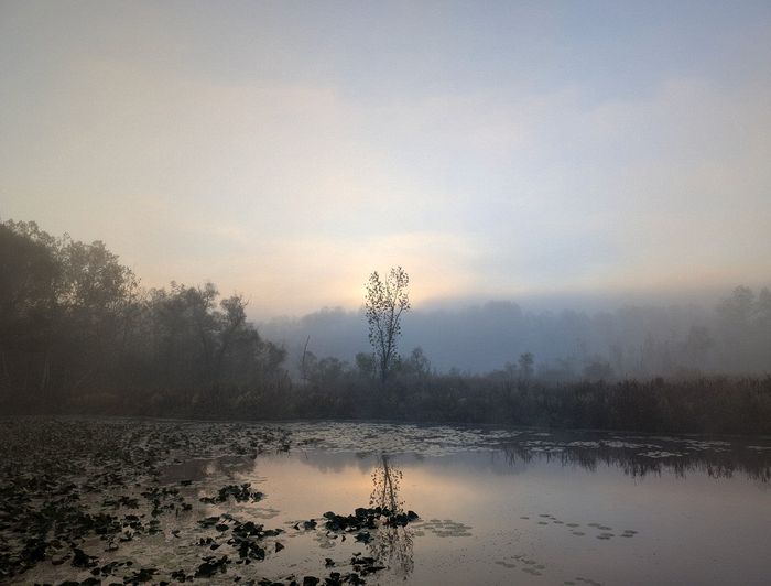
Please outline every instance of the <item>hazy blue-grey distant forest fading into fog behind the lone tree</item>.
[[[596, 313], [524, 311], [510, 301], [461, 310], [415, 310], [405, 317], [402, 347], [420, 347], [438, 372], [517, 376], [519, 358], [532, 354], [543, 381], [619, 380], [658, 376], [771, 372], [771, 293], [747, 286], [727, 291], [712, 306], [625, 305]], [[296, 372], [305, 341], [321, 357], [349, 363], [366, 349], [361, 311], [322, 310], [260, 325], [283, 344]]]

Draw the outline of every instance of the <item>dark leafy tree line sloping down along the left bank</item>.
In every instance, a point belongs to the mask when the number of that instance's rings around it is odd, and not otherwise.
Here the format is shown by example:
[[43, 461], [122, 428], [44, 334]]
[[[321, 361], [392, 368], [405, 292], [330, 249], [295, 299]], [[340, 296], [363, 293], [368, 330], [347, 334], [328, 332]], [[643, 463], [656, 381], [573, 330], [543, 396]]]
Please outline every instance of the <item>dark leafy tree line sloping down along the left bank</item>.
[[104, 242], [12, 220], [0, 224], [0, 274], [3, 402], [140, 389], [203, 401], [222, 386], [287, 383], [283, 348], [247, 321], [242, 295], [222, 297], [213, 283], [144, 290]]

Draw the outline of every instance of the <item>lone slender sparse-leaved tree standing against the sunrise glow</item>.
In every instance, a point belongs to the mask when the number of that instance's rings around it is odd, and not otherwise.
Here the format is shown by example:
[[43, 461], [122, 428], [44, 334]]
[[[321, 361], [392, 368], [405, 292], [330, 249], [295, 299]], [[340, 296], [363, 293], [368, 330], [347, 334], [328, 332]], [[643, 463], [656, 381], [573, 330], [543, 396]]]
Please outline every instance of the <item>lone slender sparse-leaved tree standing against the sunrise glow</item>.
[[397, 339], [402, 333], [400, 318], [410, 308], [410, 295], [406, 286], [410, 276], [404, 269], [391, 269], [384, 280], [378, 271], [369, 275], [365, 308], [369, 324], [369, 343], [378, 359], [380, 380], [386, 382], [397, 359]]

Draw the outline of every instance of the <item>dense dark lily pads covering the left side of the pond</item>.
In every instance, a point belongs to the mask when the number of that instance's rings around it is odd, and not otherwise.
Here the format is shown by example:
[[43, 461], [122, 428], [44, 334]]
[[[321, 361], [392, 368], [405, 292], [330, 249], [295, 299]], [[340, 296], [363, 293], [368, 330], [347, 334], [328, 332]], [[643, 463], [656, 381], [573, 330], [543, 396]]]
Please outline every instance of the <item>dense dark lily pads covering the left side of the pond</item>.
[[259, 455], [292, 444], [291, 432], [263, 425], [0, 421], [0, 582], [366, 584], [386, 566], [361, 552], [329, 552], [335, 560], [319, 564], [321, 578], [287, 568], [276, 582], [263, 577], [260, 563], [302, 534], [347, 536], [352, 547], [376, 552], [419, 519], [395, 500], [268, 529], [254, 519], [270, 496], [234, 484], [232, 468], [210, 479], [194, 468], [167, 476], [191, 460], [225, 458], [250, 469]]

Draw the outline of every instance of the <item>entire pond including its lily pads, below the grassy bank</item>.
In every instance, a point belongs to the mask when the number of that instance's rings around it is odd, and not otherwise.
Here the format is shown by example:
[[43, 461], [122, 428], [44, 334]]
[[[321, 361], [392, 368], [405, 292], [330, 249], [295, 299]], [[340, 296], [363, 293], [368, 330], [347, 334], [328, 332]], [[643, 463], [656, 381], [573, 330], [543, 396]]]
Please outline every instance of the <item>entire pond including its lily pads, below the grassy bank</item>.
[[[2, 434], [19, 458], [3, 493], [26, 495], [0, 519], [9, 582], [768, 584], [771, 572], [771, 438], [124, 420]], [[45, 542], [36, 560], [22, 522]]]

